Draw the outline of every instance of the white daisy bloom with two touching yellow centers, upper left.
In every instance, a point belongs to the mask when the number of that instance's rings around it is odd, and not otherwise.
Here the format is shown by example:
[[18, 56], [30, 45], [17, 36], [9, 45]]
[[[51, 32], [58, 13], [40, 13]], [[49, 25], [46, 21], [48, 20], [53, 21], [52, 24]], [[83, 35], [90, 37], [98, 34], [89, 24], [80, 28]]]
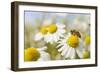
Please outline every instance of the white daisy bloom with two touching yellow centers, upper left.
[[65, 25], [64, 24], [50, 24], [50, 25], [43, 25], [40, 28], [40, 32], [36, 34], [35, 40], [44, 39], [47, 43], [57, 42], [60, 37], [63, 37], [65, 33]]

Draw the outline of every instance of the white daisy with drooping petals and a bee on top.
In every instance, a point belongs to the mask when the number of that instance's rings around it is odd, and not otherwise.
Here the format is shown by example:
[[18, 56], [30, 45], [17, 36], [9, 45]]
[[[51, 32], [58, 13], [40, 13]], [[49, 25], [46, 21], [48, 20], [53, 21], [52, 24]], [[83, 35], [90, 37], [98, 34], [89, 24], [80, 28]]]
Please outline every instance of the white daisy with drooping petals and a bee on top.
[[79, 32], [73, 30], [64, 39], [60, 40], [57, 46], [58, 51], [65, 58], [74, 59], [76, 54], [79, 58], [83, 58], [83, 41]]

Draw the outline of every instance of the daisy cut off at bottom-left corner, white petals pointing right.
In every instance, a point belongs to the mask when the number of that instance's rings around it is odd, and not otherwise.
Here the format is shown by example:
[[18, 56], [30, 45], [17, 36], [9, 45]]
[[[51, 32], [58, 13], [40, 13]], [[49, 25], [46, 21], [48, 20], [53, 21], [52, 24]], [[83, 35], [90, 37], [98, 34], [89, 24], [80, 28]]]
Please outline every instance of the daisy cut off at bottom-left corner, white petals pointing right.
[[24, 61], [48, 61], [50, 55], [45, 52], [46, 47], [43, 48], [27, 48], [24, 50]]

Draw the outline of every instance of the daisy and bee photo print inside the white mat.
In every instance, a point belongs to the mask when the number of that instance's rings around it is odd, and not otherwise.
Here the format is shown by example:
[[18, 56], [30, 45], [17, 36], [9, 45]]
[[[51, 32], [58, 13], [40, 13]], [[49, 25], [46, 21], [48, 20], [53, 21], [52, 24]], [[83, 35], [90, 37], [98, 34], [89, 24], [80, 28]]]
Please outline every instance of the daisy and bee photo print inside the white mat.
[[[25, 16], [25, 62], [90, 58], [90, 14], [26, 12]], [[47, 49], [36, 48], [41, 46]]]

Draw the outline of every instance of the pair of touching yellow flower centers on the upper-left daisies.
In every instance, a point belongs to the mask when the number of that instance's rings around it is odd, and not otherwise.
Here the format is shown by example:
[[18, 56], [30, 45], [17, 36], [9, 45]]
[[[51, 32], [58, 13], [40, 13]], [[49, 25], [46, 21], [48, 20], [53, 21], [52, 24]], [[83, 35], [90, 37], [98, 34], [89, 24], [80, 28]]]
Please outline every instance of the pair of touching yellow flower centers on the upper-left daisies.
[[48, 32], [49, 33], [54, 33], [56, 31], [57, 31], [56, 24], [51, 24], [51, 25], [48, 25], [48, 26], [42, 26], [41, 29], [40, 29], [40, 32], [42, 34], [47, 34]]

